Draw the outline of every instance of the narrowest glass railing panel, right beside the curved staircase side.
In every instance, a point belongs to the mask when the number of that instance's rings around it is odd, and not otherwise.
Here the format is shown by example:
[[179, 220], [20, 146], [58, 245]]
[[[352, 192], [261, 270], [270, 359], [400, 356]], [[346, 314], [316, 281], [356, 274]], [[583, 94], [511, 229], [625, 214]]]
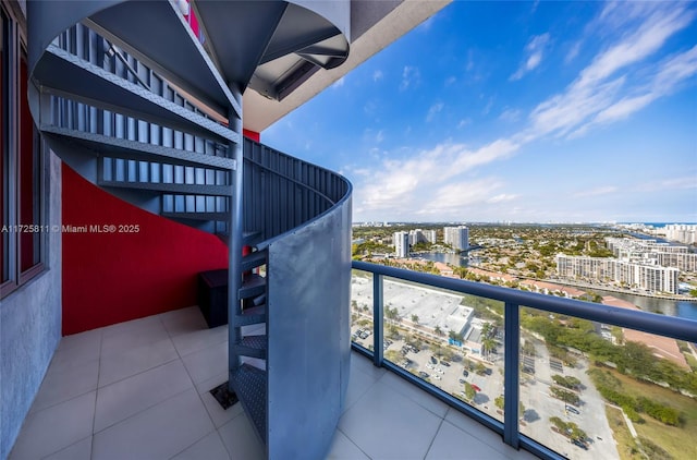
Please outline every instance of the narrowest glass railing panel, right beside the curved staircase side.
[[352, 270], [351, 277], [351, 340], [372, 350], [372, 274]]

